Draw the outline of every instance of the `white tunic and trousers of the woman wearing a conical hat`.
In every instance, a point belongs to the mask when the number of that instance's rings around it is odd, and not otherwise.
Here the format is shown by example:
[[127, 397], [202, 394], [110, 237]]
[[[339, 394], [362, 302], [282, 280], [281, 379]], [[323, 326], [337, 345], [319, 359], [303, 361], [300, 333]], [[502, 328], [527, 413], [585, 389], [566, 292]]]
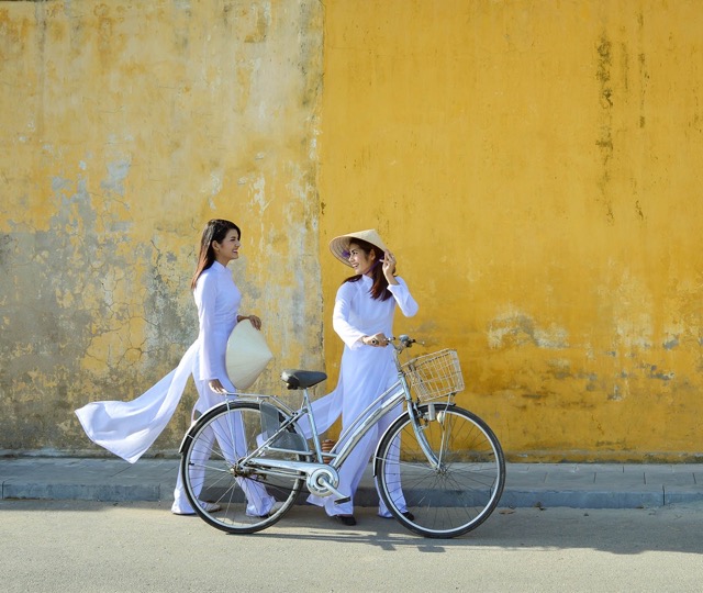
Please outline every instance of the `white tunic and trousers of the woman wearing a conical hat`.
[[[313, 403], [315, 424], [321, 433], [326, 430], [339, 414], [344, 430], [376, 398], [395, 382], [398, 371], [391, 347], [367, 346], [361, 338], [380, 332], [386, 336], [392, 336], [397, 305], [406, 317], [417, 313], [417, 303], [410, 294], [408, 286], [402, 278], [397, 280], [398, 286], [388, 287], [392, 299], [386, 301], [371, 298], [369, 290], [372, 280], [367, 276], [362, 276], [356, 282], [345, 282], [337, 290], [332, 323], [345, 346], [337, 387], [332, 393]], [[367, 433], [345, 460], [339, 470], [338, 490], [343, 494], [354, 496], [375, 447], [394, 418], [393, 414], [386, 416]], [[310, 496], [309, 501], [324, 506], [328, 515], [347, 515], [354, 510], [353, 500], [338, 505], [334, 504], [334, 496]], [[390, 516], [382, 502], [380, 514]]]

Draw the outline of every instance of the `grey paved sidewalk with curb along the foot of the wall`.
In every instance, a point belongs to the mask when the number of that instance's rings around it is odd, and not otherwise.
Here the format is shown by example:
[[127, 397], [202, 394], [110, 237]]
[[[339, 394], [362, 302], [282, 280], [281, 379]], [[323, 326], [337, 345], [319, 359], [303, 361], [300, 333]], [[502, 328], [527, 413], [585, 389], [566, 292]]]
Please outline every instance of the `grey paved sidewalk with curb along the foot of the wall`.
[[[0, 499], [174, 500], [178, 459], [0, 457]], [[302, 501], [303, 499], [301, 499]], [[370, 470], [355, 499], [377, 504]], [[636, 508], [703, 501], [703, 463], [509, 463], [501, 507]]]

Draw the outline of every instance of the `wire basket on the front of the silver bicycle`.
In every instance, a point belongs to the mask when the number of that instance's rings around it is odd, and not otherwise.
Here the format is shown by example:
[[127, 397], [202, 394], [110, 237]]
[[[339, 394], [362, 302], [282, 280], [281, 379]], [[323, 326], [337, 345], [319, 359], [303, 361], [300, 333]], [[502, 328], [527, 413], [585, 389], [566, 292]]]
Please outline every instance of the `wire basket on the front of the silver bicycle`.
[[411, 391], [426, 402], [453, 395], [464, 389], [461, 366], [456, 350], [439, 350], [409, 360], [402, 366]]

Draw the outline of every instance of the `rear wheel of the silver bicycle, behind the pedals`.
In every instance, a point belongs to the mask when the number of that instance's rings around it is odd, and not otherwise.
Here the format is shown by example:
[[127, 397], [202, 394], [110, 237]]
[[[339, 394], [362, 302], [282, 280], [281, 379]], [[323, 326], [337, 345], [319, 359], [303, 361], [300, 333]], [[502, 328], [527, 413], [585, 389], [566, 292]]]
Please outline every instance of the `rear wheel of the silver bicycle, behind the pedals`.
[[[289, 432], [294, 434], [292, 426]], [[295, 502], [304, 484], [300, 473], [241, 463], [263, 443], [261, 434], [259, 403], [234, 401], [210, 410], [186, 435], [180, 466], [183, 485], [192, 507], [209, 525], [228, 533], [259, 532]], [[266, 457], [308, 460], [303, 454], [269, 449]]]

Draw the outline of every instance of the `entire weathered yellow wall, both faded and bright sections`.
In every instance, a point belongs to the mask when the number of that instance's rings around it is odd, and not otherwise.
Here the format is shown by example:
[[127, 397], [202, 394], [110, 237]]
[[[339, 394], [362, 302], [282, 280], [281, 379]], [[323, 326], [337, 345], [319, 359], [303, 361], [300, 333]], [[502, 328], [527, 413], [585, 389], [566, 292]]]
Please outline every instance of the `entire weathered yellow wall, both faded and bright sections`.
[[700, 456], [702, 21], [695, 0], [0, 0], [0, 449], [87, 448], [75, 407], [172, 368], [198, 235], [226, 216], [277, 354], [257, 387], [325, 362], [334, 383], [326, 244], [375, 226], [421, 304], [398, 333], [459, 350], [460, 403], [511, 459]]

